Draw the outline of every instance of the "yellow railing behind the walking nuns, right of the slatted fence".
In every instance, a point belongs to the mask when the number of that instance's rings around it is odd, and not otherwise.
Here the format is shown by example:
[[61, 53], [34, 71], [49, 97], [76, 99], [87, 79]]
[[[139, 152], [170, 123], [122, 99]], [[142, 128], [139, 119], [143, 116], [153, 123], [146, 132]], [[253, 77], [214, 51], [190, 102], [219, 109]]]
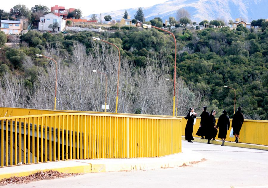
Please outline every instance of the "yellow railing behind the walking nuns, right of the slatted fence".
[[[182, 135], [185, 136], [185, 126], [187, 120], [182, 118]], [[216, 118], [216, 124], [218, 122], [218, 118]], [[200, 125], [200, 118], [197, 118], [196, 124], [194, 125], [193, 136], [200, 137], [196, 135], [196, 132]], [[230, 129], [227, 132], [226, 141], [234, 141], [235, 138], [230, 138], [232, 119], [230, 119]], [[240, 130], [239, 142], [247, 143], [247, 144], [259, 144], [268, 146], [268, 121], [267, 120], [244, 120], [242, 128]], [[219, 133], [219, 131], [218, 131]], [[216, 138], [218, 135], [216, 136]]]

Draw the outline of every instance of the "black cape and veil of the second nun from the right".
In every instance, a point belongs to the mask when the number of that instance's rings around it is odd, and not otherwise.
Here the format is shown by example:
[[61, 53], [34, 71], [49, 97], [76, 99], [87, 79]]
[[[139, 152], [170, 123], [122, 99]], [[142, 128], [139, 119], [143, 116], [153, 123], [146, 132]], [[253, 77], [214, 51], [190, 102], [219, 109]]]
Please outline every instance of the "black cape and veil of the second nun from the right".
[[226, 138], [227, 131], [230, 129], [230, 118], [227, 111], [224, 110], [223, 114], [219, 116], [217, 128], [219, 128], [218, 138]]

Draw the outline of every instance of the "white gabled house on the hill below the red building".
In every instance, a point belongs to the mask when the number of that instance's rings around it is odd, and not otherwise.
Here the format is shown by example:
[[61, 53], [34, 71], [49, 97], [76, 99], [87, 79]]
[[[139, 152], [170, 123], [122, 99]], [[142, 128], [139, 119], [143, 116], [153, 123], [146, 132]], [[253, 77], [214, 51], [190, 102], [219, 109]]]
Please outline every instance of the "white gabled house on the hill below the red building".
[[49, 28], [49, 25], [55, 22], [59, 24], [59, 27], [56, 28], [55, 31], [63, 31], [65, 29], [66, 19], [49, 13], [40, 18], [38, 30], [52, 31], [52, 29]]

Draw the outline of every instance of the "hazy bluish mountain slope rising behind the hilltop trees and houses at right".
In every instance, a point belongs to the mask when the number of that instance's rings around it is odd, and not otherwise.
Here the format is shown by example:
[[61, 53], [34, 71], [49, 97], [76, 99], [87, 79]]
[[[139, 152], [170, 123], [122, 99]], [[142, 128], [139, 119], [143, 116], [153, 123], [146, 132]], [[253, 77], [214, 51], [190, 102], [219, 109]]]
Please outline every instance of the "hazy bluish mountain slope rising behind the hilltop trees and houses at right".
[[[200, 22], [204, 19], [224, 19], [225, 21], [243, 18], [247, 22], [257, 19], [268, 18], [268, 1], [267, 0], [169, 0], [151, 7], [142, 7], [146, 21], [160, 17], [169, 19], [170, 16], [176, 18], [176, 11], [180, 8], [188, 10], [191, 14], [191, 20]], [[124, 11], [127, 10], [131, 19], [137, 8], [122, 9], [103, 13], [110, 15], [113, 20], [121, 20]], [[90, 17], [89, 15], [88, 17]], [[142, 20], [141, 20], [142, 21]]]

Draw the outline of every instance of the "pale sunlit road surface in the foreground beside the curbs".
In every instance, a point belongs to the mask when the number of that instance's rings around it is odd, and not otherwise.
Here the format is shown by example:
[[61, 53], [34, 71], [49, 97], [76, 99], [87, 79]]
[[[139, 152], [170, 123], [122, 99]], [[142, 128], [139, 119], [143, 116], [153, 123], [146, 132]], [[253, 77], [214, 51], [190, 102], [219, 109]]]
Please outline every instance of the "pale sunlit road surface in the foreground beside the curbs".
[[201, 153], [206, 160], [186, 167], [88, 173], [4, 187], [268, 188], [268, 151], [186, 141], [182, 147]]

